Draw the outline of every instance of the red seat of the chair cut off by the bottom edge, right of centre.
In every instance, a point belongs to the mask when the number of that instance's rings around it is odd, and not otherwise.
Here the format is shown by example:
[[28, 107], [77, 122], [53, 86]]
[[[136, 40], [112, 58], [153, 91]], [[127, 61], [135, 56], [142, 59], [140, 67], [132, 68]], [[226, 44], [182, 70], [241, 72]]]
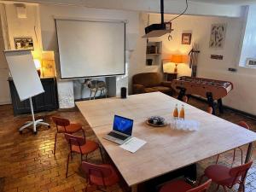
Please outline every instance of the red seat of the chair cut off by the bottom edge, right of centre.
[[186, 192], [187, 190], [192, 189], [192, 186], [189, 183], [184, 181], [172, 181], [166, 183], [161, 189], [160, 192]]

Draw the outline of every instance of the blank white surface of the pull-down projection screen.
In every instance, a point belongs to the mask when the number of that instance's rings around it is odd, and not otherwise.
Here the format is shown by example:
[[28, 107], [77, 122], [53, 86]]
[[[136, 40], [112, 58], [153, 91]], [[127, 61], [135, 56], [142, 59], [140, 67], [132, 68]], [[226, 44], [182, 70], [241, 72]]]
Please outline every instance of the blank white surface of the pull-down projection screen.
[[61, 79], [125, 74], [125, 22], [55, 19]]

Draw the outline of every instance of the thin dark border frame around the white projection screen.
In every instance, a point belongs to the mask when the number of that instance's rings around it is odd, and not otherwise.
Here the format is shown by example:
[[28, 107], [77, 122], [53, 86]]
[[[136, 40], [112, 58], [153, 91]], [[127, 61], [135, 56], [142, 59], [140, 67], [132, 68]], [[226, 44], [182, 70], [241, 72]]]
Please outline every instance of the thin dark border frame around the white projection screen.
[[[92, 19], [75, 19], [75, 18], [58, 18], [55, 17], [55, 30], [56, 30], [56, 39], [57, 39], [57, 49], [58, 49], [58, 57], [59, 57], [59, 73], [61, 80], [68, 80], [68, 79], [90, 79], [90, 78], [101, 78], [101, 77], [113, 77], [113, 76], [121, 76], [125, 75], [126, 73], [126, 58], [125, 58], [125, 48], [126, 48], [126, 20], [92, 20]], [[56, 20], [71, 20], [71, 21], [89, 21], [89, 22], [109, 22], [109, 23], [123, 23], [124, 24], [124, 73], [118, 73], [118, 74], [108, 74], [108, 75], [94, 75], [94, 76], [82, 76], [82, 77], [73, 77], [73, 78], [62, 78], [61, 76], [61, 53], [59, 48], [59, 38], [58, 38], [58, 31], [57, 31], [57, 23]]]

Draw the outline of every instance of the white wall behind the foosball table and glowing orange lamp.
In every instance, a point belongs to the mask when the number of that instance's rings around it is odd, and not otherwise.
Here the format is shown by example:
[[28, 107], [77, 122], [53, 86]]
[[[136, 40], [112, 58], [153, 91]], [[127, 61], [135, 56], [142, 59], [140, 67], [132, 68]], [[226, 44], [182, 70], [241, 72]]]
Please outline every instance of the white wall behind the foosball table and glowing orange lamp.
[[[172, 15], [166, 15], [166, 20], [170, 18], [172, 18]], [[150, 15], [150, 23], [155, 23], [159, 20], [160, 15]], [[140, 22], [142, 28], [145, 26], [145, 22], [143, 21], [141, 19]], [[224, 97], [224, 105], [247, 113], [256, 114], [256, 69], [238, 67], [241, 33], [243, 31], [242, 21], [242, 18], [186, 15], [172, 22], [174, 29], [172, 32], [172, 41], [169, 42], [167, 40], [168, 35], [149, 40], [163, 41], [163, 58], [170, 53], [179, 52], [188, 54], [191, 45], [181, 44], [181, 38], [183, 32], [192, 32], [192, 43], [199, 44], [201, 50], [198, 61], [198, 77], [231, 81], [234, 84], [234, 90], [228, 96]], [[224, 49], [209, 48], [210, 30], [213, 23], [227, 23]], [[212, 60], [210, 58], [212, 54], [224, 55], [224, 60]], [[229, 67], [237, 68], [237, 73], [229, 72]], [[138, 72], [148, 71], [145, 61], [137, 62], [137, 66], [131, 68], [130, 71], [131, 73], [136, 73], [137, 70]], [[178, 65], [178, 75], [190, 75], [188, 64]]]

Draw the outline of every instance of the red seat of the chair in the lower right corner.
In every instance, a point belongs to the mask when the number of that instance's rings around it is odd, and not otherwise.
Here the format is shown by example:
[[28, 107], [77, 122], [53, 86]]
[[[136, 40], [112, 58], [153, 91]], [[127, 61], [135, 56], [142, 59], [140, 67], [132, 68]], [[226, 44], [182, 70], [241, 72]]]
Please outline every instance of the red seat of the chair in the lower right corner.
[[205, 170], [205, 175], [212, 179], [212, 182], [225, 186], [230, 186], [233, 182], [233, 177], [230, 176], [230, 168], [221, 165], [208, 166]]

